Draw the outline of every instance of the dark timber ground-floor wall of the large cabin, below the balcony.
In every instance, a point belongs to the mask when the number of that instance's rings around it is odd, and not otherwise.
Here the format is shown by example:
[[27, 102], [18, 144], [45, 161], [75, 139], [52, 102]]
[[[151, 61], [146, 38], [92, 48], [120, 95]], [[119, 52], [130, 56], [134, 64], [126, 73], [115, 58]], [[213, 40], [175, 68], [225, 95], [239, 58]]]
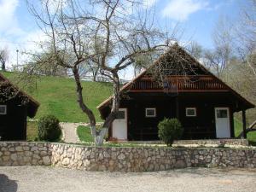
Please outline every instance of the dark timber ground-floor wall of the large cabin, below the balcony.
[[[230, 135], [234, 137], [233, 102], [228, 93], [129, 94], [120, 108], [127, 108], [128, 139], [158, 140], [160, 120], [177, 117], [183, 127], [183, 139], [216, 138], [214, 108], [230, 108]], [[196, 117], [186, 117], [185, 108], [196, 108]], [[156, 117], [145, 117], [145, 108], [156, 108]]]

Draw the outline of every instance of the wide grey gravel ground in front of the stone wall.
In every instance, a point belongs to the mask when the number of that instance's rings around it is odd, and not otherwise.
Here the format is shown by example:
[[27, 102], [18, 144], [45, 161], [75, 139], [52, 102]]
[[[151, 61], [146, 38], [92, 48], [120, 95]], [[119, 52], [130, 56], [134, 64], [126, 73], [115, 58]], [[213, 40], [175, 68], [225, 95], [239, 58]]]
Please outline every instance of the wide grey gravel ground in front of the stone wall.
[[0, 167], [1, 192], [255, 192], [256, 170], [187, 168], [168, 172], [85, 172], [50, 166]]

